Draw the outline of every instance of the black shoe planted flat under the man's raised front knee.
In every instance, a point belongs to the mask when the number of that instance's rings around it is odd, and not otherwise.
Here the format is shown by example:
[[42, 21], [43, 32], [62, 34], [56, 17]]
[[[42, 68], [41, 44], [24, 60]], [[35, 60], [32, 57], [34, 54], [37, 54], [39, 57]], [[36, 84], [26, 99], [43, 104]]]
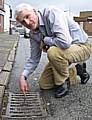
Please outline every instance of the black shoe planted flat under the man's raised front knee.
[[55, 98], [61, 98], [64, 97], [70, 88], [70, 81], [69, 78], [65, 80], [65, 82], [62, 85], [56, 85], [55, 88]]

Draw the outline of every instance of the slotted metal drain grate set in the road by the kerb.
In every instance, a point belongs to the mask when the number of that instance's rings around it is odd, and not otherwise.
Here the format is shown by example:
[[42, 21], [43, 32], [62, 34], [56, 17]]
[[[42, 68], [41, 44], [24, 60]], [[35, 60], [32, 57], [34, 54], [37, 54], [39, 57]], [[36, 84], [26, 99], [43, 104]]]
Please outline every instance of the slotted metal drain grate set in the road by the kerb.
[[9, 93], [6, 115], [3, 118], [19, 120], [28, 118], [38, 118], [47, 116], [47, 111], [43, 107], [43, 101], [39, 93], [28, 92]]

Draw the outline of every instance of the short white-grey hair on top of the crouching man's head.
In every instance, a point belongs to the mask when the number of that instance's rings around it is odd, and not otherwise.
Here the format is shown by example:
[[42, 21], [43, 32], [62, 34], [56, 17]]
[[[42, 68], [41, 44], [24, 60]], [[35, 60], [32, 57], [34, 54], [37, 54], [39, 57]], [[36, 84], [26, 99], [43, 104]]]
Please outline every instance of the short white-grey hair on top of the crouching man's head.
[[19, 4], [18, 6], [16, 6], [15, 8], [15, 14], [14, 14], [14, 18], [16, 19], [18, 14], [23, 11], [24, 9], [27, 9], [27, 10], [32, 10], [34, 9], [33, 6], [29, 5], [29, 4], [26, 4], [26, 3], [21, 3]]

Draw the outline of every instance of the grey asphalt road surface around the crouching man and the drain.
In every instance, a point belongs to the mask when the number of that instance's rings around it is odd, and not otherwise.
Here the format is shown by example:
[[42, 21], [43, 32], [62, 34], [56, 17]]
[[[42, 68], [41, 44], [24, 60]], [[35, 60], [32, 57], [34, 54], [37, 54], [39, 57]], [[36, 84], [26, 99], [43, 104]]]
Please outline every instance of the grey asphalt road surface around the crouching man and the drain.
[[[89, 38], [91, 41], [92, 38]], [[30, 56], [29, 39], [20, 37], [15, 63], [10, 75], [8, 92], [18, 93], [19, 76], [24, 64]], [[37, 120], [92, 120], [92, 55], [87, 60], [87, 70], [90, 80], [86, 85], [76, 84], [70, 87], [69, 94], [63, 98], [55, 99], [53, 90], [41, 91], [38, 79], [47, 63], [46, 53], [43, 53], [36, 71], [29, 76], [29, 91], [39, 92], [46, 102], [48, 109], [47, 117]]]

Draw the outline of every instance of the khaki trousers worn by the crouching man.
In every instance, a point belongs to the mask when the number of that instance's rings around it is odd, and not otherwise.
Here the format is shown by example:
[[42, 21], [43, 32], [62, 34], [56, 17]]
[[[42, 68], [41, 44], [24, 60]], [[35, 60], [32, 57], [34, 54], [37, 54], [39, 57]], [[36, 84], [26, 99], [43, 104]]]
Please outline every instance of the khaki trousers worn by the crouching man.
[[91, 45], [72, 44], [67, 49], [52, 46], [47, 51], [49, 63], [46, 65], [40, 79], [39, 85], [42, 89], [53, 88], [61, 85], [69, 77], [69, 65], [82, 62], [90, 57]]

